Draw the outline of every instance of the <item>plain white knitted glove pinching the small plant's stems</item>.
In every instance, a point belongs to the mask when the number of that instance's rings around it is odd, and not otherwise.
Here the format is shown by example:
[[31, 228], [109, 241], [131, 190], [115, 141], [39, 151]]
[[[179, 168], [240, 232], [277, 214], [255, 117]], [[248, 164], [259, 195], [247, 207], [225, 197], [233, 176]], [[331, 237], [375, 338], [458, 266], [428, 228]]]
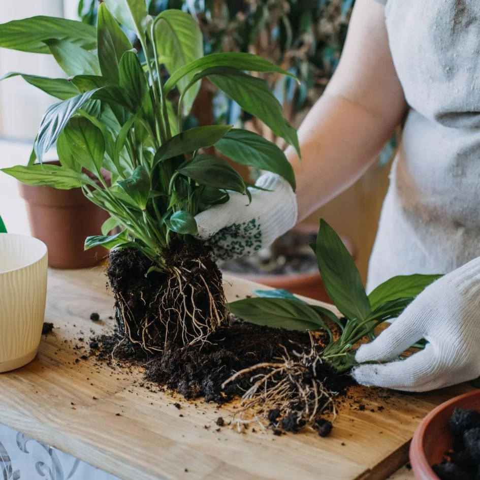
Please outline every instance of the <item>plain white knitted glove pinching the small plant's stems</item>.
[[[424, 350], [395, 360], [425, 338]], [[362, 345], [353, 370], [366, 386], [424, 392], [480, 376], [480, 258], [422, 292], [373, 342]], [[392, 361], [395, 360], [395, 361]]]

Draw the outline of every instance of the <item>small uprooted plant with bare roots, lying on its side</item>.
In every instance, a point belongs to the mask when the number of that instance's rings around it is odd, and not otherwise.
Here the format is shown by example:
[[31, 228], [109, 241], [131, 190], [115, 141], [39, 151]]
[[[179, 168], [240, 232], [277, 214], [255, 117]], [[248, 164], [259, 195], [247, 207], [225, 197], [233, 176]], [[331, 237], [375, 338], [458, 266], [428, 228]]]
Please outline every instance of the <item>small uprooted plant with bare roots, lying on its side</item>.
[[[322, 434], [326, 409], [335, 412], [332, 377], [339, 377], [356, 365], [359, 342], [373, 339], [382, 322], [395, 318], [440, 275], [397, 276], [379, 285], [367, 296], [353, 259], [335, 231], [324, 220], [316, 243], [311, 245], [318, 269], [333, 303], [343, 315], [309, 305], [285, 290], [256, 291], [258, 297], [230, 303], [230, 310], [247, 322], [287, 330], [311, 331], [311, 348], [282, 356], [276, 363], [258, 364], [237, 372], [224, 385], [241, 375], [255, 379], [243, 396], [243, 411], [268, 418], [278, 411], [290, 429], [308, 425]], [[334, 326], [335, 328], [330, 328]], [[329, 340], [315, 340], [316, 330], [326, 331]], [[421, 346], [421, 345], [418, 345]], [[335, 382], [333, 382], [335, 384]], [[321, 421], [322, 425], [318, 425]], [[285, 425], [283, 428], [286, 428]]]

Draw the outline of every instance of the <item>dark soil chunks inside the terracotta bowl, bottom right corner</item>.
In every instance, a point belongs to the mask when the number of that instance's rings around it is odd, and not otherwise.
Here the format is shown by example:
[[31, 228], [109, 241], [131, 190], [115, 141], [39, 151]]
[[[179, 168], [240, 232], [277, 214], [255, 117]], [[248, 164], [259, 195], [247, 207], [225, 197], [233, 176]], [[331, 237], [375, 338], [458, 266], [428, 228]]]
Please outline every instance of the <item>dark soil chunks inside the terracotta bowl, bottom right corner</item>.
[[434, 465], [440, 480], [477, 480], [480, 478], [480, 412], [456, 408], [449, 421], [453, 451]]

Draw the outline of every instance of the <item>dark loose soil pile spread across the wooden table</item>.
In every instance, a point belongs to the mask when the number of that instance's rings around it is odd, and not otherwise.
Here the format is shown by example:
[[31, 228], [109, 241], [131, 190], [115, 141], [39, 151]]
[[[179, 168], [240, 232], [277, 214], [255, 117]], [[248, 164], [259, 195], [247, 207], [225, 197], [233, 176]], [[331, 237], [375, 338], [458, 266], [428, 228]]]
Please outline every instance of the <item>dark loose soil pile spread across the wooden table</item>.
[[[321, 336], [316, 341], [319, 345], [325, 344], [327, 338]], [[310, 351], [311, 347], [311, 338], [307, 332], [257, 326], [239, 319], [234, 319], [231, 327], [211, 334], [208, 342], [201, 345], [174, 346], [153, 355], [126, 340], [118, 329], [112, 335], [101, 335], [90, 341], [92, 354], [99, 361], [116, 365], [134, 363], [144, 369], [146, 380], [176, 391], [186, 399], [204, 397], [205, 401], [218, 405], [241, 397], [252, 386], [255, 378], [266, 374], [268, 370], [262, 368], [251, 374], [240, 375], [222, 388], [222, 383], [236, 372], [261, 363], [279, 362], [285, 355], [299, 355]], [[349, 375], [333, 374], [326, 364], [317, 364], [315, 372], [325, 388], [336, 397], [344, 395], [346, 388], [353, 382]], [[308, 385], [312, 381], [311, 375], [311, 370], [305, 369], [301, 382]], [[330, 411], [329, 405], [322, 404], [327, 401], [327, 397], [319, 396], [319, 410], [322, 407], [325, 409], [310, 425], [321, 436], [327, 436], [332, 429], [331, 423], [323, 418], [323, 414]], [[283, 413], [275, 413], [274, 410], [268, 413], [266, 422], [274, 433], [296, 433], [305, 427], [299, 413], [299, 403], [298, 397], [292, 395], [288, 413], [285, 410]], [[219, 421], [218, 419], [217, 422]], [[217, 425], [220, 426], [220, 423]]]

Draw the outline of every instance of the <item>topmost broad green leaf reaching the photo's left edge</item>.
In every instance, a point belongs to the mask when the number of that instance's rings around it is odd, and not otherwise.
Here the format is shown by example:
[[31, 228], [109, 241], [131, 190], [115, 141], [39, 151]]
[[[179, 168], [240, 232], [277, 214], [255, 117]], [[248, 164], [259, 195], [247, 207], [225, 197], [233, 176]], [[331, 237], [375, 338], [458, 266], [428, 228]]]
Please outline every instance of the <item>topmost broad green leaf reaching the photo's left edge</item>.
[[95, 28], [65, 18], [37, 16], [0, 25], [0, 47], [23, 52], [50, 53], [45, 40], [67, 40], [90, 50], [97, 44]]

